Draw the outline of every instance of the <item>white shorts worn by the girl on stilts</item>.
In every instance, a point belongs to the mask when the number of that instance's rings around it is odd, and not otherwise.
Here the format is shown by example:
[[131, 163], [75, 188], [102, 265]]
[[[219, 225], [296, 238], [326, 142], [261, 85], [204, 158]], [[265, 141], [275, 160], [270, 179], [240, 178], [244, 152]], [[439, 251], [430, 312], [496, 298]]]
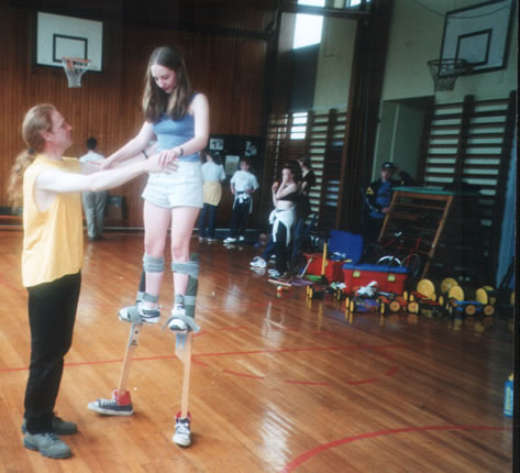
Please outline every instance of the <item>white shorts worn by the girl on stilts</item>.
[[180, 162], [173, 173], [151, 173], [141, 195], [157, 207], [202, 208], [202, 169], [200, 163]]

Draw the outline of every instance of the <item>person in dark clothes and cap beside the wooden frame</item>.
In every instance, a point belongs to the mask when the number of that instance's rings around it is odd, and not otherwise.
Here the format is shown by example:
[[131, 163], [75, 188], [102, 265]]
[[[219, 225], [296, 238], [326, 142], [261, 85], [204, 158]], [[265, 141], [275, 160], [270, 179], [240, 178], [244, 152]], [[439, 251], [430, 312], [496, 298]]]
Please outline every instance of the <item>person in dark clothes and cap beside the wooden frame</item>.
[[[365, 245], [374, 243], [379, 237], [383, 221], [390, 209], [392, 188], [413, 185], [413, 178], [394, 163], [383, 163], [380, 173], [380, 178], [372, 183], [365, 191], [363, 212]], [[399, 176], [399, 179], [392, 179], [395, 175]]]

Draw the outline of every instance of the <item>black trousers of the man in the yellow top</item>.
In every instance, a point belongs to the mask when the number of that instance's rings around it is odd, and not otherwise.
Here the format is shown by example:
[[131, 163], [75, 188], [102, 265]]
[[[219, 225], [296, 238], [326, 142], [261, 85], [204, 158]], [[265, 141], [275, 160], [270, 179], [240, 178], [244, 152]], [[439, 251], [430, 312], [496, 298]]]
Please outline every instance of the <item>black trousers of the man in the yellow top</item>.
[[73, 343], [81, 274], [27, 287], [31, 364], [25, 389], [27, 431], [52, 430], [64, 358]]

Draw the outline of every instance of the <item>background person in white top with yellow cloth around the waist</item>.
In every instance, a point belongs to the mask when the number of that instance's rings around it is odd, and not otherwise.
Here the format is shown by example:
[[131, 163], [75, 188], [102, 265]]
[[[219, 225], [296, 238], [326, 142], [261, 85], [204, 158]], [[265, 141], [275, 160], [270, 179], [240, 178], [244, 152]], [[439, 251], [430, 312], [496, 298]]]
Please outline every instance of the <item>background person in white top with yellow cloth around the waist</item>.
[[[202, 198], [203, 207], [199, 217], [199, 241], [217, 241], [214, 238], [214, 222], [217, 207], [222, 197], [222, 183], [225, 179], [224, 167], [220, 163], [218, 151], [204, 150], [206, 163], [202, 164]], [[206, 227], [208, 216], [208, 227]]]

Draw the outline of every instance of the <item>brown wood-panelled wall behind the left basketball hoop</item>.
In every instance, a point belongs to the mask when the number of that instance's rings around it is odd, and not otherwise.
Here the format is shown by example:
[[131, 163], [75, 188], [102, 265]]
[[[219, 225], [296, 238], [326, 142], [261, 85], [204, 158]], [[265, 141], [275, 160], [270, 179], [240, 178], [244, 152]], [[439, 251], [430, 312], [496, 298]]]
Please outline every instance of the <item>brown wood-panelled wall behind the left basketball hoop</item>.
[[[267, 45], [254, 32], [263, 31], [270, 18], [267, 12], [255, 9], [239, 12], [230, 8], [197, 11], [197, 2], [188, 2], [190, 9], [179, 10], [178, 2], [172, 2], [177, 8], [170, 12], [169, 21], [165, 11], [153, 16], [152, 11], [140, 14], [128, 10], [129, 4], [137, 8], [141, 2], [95, 0], [85, 7], [85, 2], [69, 1], [67, 7], [47, 12], [101, 20], [104, 33], [103, 72], [87, 72], [82, 87], [69, 89], [62, 68], [33, 65], [32, 37], [37, 10], [33, 1], [20, 3], [25, 7], [0, 0], [0, 51], [3, 52], [0, 206], [8, 206], [5, 183], [15, 155], [24, 147], [21, 139], [24, 113], [36, 103], [53, 103], [73, 125], [74, 145], [68, 155], [84, 154], [85, 141], [90, 135], [98, 139], [100, 152], [112, 153], [142, 125], [141, 96], [146, 63], [152, 50], [159, 45], [173, 45], [184, 52], [192, 87], [209, 98], [211, 133], [262, 134]], [[52, 3], [46, 2], [47, 8]], [[166, 7], [161, 3], [161, 8]], [[159, 13], [163, 19], [158, 18]], [[176, 14], [181, 14], [181, 19]], [[186, 21], [184, 28], [176, 29], [175, 24], [182, 21]], [[252, 33], [241, 33], [244, 31]], [[143, 176], [111, 191], [126, 199], [129, 212], [124, 224], [128, 227], [142, 227], [140, 196], [145, 179]], [[218, 227], [229, 227], [230, 216], [231, 198], [226, 188]]]

